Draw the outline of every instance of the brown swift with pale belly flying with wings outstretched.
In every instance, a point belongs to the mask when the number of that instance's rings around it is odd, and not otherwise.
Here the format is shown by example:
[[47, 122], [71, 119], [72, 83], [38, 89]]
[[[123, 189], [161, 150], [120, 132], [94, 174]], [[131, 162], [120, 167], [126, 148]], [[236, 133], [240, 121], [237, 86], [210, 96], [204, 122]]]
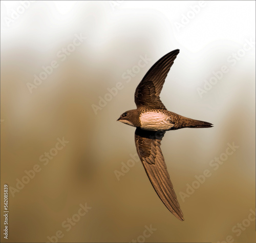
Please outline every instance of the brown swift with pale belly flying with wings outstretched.
[[165, 78], [179, 52], [177, 49], [167, 53], [151, 67], [135, 91], [137, 109], [124, 112], [117, 121], [136, 127], [135, 145], [147, 176], [164, 205], [183, 221], [160, 148], [161, 140], [168, 130], [212, 127], [212, 124], [169, 112], [160, 100]]

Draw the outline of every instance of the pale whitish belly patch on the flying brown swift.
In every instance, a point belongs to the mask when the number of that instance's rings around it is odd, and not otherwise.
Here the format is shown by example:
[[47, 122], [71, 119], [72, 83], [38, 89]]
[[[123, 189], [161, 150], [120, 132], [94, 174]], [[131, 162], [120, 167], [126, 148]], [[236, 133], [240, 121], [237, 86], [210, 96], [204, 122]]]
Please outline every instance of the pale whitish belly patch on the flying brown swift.
[[141, 128], [145, 130], [170, 130], [174, 124], [170, 123], [169, 116], [161, 112], [146, 112], [140, 115]]

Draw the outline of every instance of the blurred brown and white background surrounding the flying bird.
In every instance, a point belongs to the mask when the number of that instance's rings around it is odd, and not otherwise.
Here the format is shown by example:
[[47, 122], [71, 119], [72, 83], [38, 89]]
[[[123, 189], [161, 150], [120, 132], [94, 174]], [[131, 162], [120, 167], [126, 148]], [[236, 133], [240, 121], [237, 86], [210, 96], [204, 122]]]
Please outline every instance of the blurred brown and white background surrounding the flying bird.
[[[161, 100], [214, 124], [162, 140], [184, 222], [116, 121], [175, 49]], [[255, 2], [1, 1], [1, 198], [3, 242], [255, 242]]]

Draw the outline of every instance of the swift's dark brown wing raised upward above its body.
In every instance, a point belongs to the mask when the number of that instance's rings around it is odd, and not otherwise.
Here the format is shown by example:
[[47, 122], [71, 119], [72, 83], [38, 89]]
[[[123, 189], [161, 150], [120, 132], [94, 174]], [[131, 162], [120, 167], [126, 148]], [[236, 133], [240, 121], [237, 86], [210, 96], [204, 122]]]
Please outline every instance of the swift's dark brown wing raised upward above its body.
[[167, 53], [147, 71], [135, 91], [135, 104], [137, 107], [166, 109], [160, 100], [160, 92], [165, 78], [172, 67], [179, 50]]

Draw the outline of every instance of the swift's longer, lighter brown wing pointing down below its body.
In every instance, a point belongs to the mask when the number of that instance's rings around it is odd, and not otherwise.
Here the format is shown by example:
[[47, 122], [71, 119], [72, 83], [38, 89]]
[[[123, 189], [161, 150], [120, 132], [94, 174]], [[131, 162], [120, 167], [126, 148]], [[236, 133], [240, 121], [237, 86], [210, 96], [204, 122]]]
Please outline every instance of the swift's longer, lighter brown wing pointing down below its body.
[[165, 131], [146, 131], [137, 128], [135, 131], [135, 145], [147, 176], [158, 196], [170, 212], [178, 219], [184, 220], [160, 148], [164, 134]]

